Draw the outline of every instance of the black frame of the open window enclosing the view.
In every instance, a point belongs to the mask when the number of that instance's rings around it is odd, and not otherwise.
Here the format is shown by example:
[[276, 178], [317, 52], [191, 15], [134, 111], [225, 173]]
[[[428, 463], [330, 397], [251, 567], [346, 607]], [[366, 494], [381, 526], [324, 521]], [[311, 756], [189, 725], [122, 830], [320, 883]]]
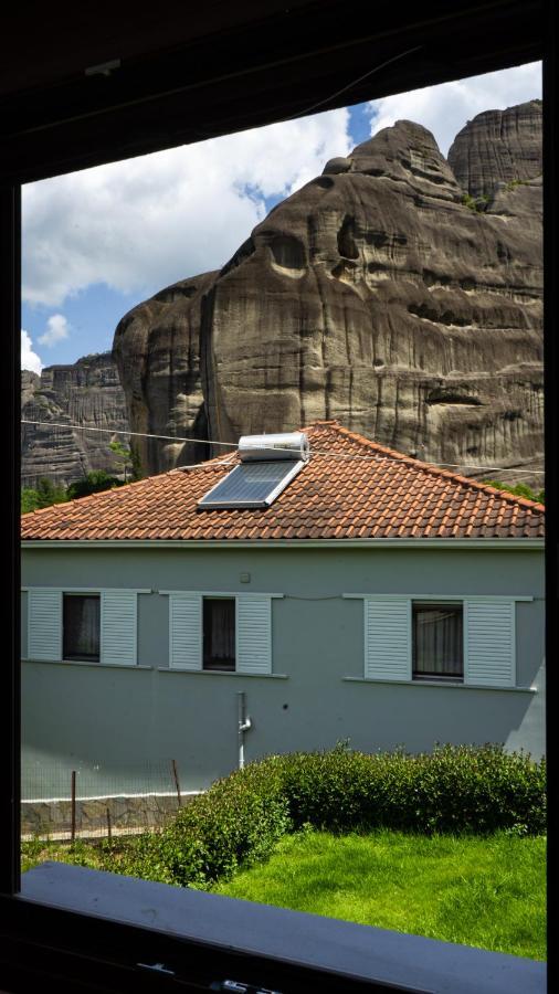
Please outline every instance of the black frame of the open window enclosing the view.
[[[251, 126], [272, 123], [283, 117], [293, 117], [302, 109], [314, 109], [313, 104], [323, 102], [319, 109], [358, 103], [361, 99], [375, 99], [390, 93], [413, 89], [439, 82], [475, 75], [505, 68], [510, 65], [544, 59], [544, 155], [546, 169], [545, 184], [545, 322], [549, 332], [545, 336], [545, 378], [546, 378], [546, 494], [548, 510], [546, 538], [546, 577], [547, 577], [547, 618], [546, 644], [548, 658], [553, 657], [555, 646], [559, 641], [557, 598], [557, 451], [558, 451], [558, 404], [555, 383], [559, 377], [557, 342], [553, 329], [557, 327], [557, 191], [555, 169], [556, 151], [556, 10], [552, 2], [494, 2], [453, 4], [428, 0], [421, 12], [414, 11], [413, 21], [402, 10], [390, 6], [371, 9], [369, 20], [360, 22], [351, 31], [351, 20], [340, 2], [325, 2], [320, 15], [313, 3], [293, 3], [292, 11], [285, 14], [274, 10], [276, 22], [265, 19], [265, 31], [260, 22], [251, 25], [247, 15], [246, 24], [241, 25], [236, 39], [238, 45], [231, 43], [230, 33], [222, 28], [218, 15], [215, 36], [208, 40], [201, 33], [201, 41], [194, 45], [196, 59], [177, 57], [177, 52], [164, 57], [169, 66], [165, 80], [167, 89], [157, 93], [157, 85], [162, 84], [161, 74], [157, 72], [158, 62], [149, 59], [131, 60], [130, 74], [120, 85], [116, 82], [112, 89], [107, 80], [99, 75], [99, 86], [95, 95], [85, 91], [84, 80], [74, 74], [62, 77], [44, 94], [31, 91], [29, 94], [20, 87], [14, 89], [4, 101], [7, 120], [2, 134], [10, 136], [4, 165], [0, 167], [0, 283], [2, 285], [2, 327], [8, 331], [8, 355], [2, 364], [4, 389], [1, 401], [4, 404], [8, 424], [6, 461], [7, 476], [11, 490], [11, 516], [4, 529], [4, 556], [2, 563], [7, 571], [4, 590], [11, 600], [11, 618], [13, 626], [9, 632], [10, 645], [7, 651], [8, 663], [2, 673], [2, 694], [0, 694], [0, 732], [2, 749], [3, 793], [0, 797], [2, 825], [9, 829], [9, 844], [4, 849], [4, 858], [0, 860], [0, 928], [1, 934], [9, 934], [14, 941], [14, 953], [10, 963], [15, 964], [9, 975], [3, 971], [3, 986], [10, 990], [27, 990], [19, 985], [25, 960], [33, 956], [40, 976], [50, 976], [53, 971], [60, 977], [59, 990], [93, 990], [94, 982], [106, 984], [117, 976], [116, 959], [102, 962], [101, 953], [92, 954], [88, 964], [93, 964], [91, 986], [84, 974], [84, 960], [80, 960], [80, 937], [88, 934], [91, 919], [75, 913], [54, 912], [48, 906], [30, 906], [20, 897], [19, 891], [19, 731], [20, 731], [20, 683], [19, 683], [19, 329], [20, 329], [20, 226], [21, 194], [20, 183], [61, 172], [72, 171], [103, 161], [114, 161], [130, 155], [168, 148], [183, 141], [200, 140], [241, 130]], [[307, 10], [308, 8], [308, 10]], [[391, 14], [391, 9], [393, 13]], [[27, 14], [23, 12], [22, 18]], [[49, 32], [54, 38], [56, 31], [63, 29], [65, 12], [49, 11], [44, 21], [44, 46], [49, 49]], [[192, 17], [189, 11], [188, 17]], [[253, 20], [254, 14], [252, 15]], [[392, 17], [392, 20], [391, 20]], [[59, 18], [59, 20], [57, 20]], [[446, 21], [445, 21], [446, 18]], [[493, 20], [492, 20], [493, 19]], [[462, 21], [462, 30], [461, 30]], [[9, 23], [7, 28], [9, 29]], [[273, 30], [271, 30], [271, 28]], [[24, 21], [15, 25], [15, 31], [23, 34]], [[524, 40], [521, 34], [524, 32]], [[107, 35], [110, 28], [107, 25]], [[12, 44], [12, 33], [6, 31], [7, 44]], [[81, 35], [81, 40], [83, 34]], [[118, 35], [117, 35], [118, 38]], [[391, 40], [387, 52], [386, 39]], [[456, 39], [460, 38], [460, 42]], [[384, 47], [383, 47], [384, 45]], [[384, 73], [370, 75], [371, 61], [382, 61], [379, 53], [392, 55], [420, 45], [419, 55], [412, 55], [405, 65], [405, 59], [389, 67]], [[363, 52], [366, 50], [366, 56]], [[229, 63], [221, 62], [222, 53], [229, 53]], [[329, 74], [317, 68], [318, 63], [326, 64], [325, 53], [337, 52], [336, 70]], [[372, 53], [372, 59], [371, 59]], [[395, 54], [394, 54], [395, 53]], [[182, 53], [178, 52], [178, 56]], [[260, 65], [259, 65], [260, 55]], [[235, 66], [236, 60], [236, 66]], [[283, 61], [282, 61], [283, 60]], [[92, 63], [94, 60], [92, 59]], [[159, 60], [160, 62], [160, 60]], [[182, 86], [172, 86], [172, 70], [178, 63], [189, 66], [193, 80], [189, 78]], [[232, 64], [233, 63], [233, 64]], [[219, 66], [221, 72], [214, 70]], [[201, 67], [201, 68], [200, 68]], [[262, 71], [264, 68], [264, 71]], [[154, 71], [155, 70], [155, 71]], [[204, 75], [205, 71], [205, 75]], [[213, 71], [213, 74], [212, 74]], [[292, 81], [292, 89], [286, 83]], [[177, 70], [177, 72], [179, 72]], [[182, 70], [183, 72], [183, 70]], [[202, 84], [197, 82], [197, 72]], [[367, 72], [368, 78], [365, 80]], [[359, 75], [362, 80], [358, 80]], [[209, 80], [203, 85], [203, 80]], [[357, 83], [347, 88], [348, 80]], [[156, 81], [158, 81], [156, 83]], [[244, 81], [244, 86], [243, 86]], [[106, 85], [105, 85], [106, 84]], [[126, 93], [128, 85], [128, 93]], [[283, 89], [282, 89], [283, 87]], [[338, 87], [338, 92], [337, 92]], [[330, 94], [336, 94], [329, 99]], [[186, 95], [186, 99], [184, 99]], [[127, 103], [126, 103], [127, 97]], [[304, 99], [302, 99], [304, 97]], [[305, 107], [302, 108], [302, 103]], [[119, 109], [120, 108], [120, 109]], [[124, 108], [124, 109], [122, 109]], [[128, 108], [128, 109], [126, 109]], [[131, 109], [130, 109], [131, 108]], [[180, 114], [178, 113], [180, 110]], [[87, 113], [85, 113], [87, 112]], [[12, 121], [18, 120], [18, 127]], [[550, 667], [548, 687], [551, 700], [557, 687], [557, 674]], [[550, 773], [555, 769], [557, 747], [551, 722], [547, 723], [548, 761]], [[550, 783], [556, 778], [550, 775]], [[555, 829], [553, 807], [550, 806], [550, 828]], [[550, 852], [549, 880], [553, 880], [555, 863]], [[555, 891], [553, 891], [555, 892]], [[54, 943], [53, 929], [49, 922], [56, 921], [62, 927], [57, 931], [57, 951], [51, 947], [49, 959], [48, 943]], [[11, 931], [10, 931], [11, 929]], [[106, 922], [98, 930], [108, 942], [115, 945], [117, 934], [123, 935], [123, 926], [118, 922]], [[139, 930], [141, 932], [141, 930]], [[64, 933], [66, 942], [61, 939]], [[169, 939], [170, 941], [170, 939]], [[226, 942], [226, 937], [224, 937]], [[46, 943], [46, 945], [45, 945]], [[53, 952], [54, 949], [54, 952]], [[191, 947], [191, 954], [193, 952]], [[197, 950], [204, 962], [209, 955], [219, 958], [222, 948], [219, 945], [208, 950]], [[550, 943], [551, 955], [555, 947]], [[2, 954], [3, 955], [3, 954]], [[115, 958], [117, 952], [115, 951]], [[72, 961], [74, 967], [72, 966]], [[80, 962], [77, 962], [80, 961]], [[2, 962], [6, 962], [2, 960]], [[245, 961], [249, 962], [249, 961]], [[50, 964], [50, 965], [49, 965]], [[270, 966], [270, 964], [268, 964]], [[31, 967], [30, 967], [31, 969]], [[64, 976], [72, 974], [75, 983], [64, 986]], [[66, 973], [64, 973], [66, 971]], [[120, 975], [120, 974], [118, 974]], [[8, 976], [8, 980], [6, 977]], [[308, 973], [300, 970], [299, 979]], [[80, 980], [76, 980], [76, 979]], [[101, 979], [101, 980], [99, 980]], [[316, 979], [316, 977], [315, 977]], [[291, 975], [295, 984], [297, 977]], [[331, 977], [330, 977], [331, 981]], [[321, 976], [324, 990], [339, 990]], [[130, 990], [168, 990], [166, 979], [160, 986], [149, 987], [134, 981]], [[307, 983], [307, 981], [305, 981]], [[308, 988], [302, 986], [300, 990]], [[351, 990], [350, 982], [344, 980], [344, 988]], [[381, 986], [367, 985], [368, 990], [383, 990]], [[125, 987], [119, 987], [125, 990]], [[289, 990], [296, 990], [291, 986]], [[398, 987], [395, 990], [404, 990]]]

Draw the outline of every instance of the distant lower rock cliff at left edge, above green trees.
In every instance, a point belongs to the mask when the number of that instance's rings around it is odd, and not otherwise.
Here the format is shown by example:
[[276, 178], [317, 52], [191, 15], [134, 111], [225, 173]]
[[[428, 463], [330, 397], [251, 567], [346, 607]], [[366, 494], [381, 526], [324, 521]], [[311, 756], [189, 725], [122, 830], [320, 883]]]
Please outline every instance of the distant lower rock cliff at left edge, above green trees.
[[[41, 377], [22, 370], [24, 421], [68, 427], [22, 425], [21, 485], [34, 487], [42, 476], [67, 486], [92, 469], [123, 475], [123, 464], [108, 445], [110, 435], [83, 432], [70, 424], [126, 431], [124, 391], [110, 352], [86, 356], [73, 366], [49, 366]], [[126, 441], [125, 436], [114, 438]]]

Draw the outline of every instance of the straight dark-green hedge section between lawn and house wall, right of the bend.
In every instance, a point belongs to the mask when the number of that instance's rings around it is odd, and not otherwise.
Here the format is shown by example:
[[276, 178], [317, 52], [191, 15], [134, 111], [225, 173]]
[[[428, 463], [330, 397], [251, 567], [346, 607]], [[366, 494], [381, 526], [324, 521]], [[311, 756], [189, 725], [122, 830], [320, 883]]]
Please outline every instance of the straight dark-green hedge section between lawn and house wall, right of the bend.
[[545, 828], [545, 762], [500, 745], [444, 745], [419, 755], [338, 748], [281, 762], [295, 827], [308, 822], [333, 832], [484, 833], [524, 825], [528, 834]]

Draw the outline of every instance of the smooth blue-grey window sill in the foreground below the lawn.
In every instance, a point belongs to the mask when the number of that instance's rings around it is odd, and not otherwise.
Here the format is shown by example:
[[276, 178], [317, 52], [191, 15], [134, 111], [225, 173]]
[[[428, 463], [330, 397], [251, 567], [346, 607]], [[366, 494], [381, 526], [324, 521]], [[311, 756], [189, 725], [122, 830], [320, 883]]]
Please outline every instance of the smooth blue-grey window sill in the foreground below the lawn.
[[[536, 960], [61, 863], [44, 863], [23, 874], [21, 897], [15, 901], [23, 905], [23, 913], [25, 905], [41, 905], [55, 912], [85, 914], [89, 931], [99, 920], [141, 929], [141, 962], [148, 966], [154, 964], [151, 932], [152, 937], [166, 933], [182, 942], [203, 943], [214, 949], [215, 955], [226, 944], [229, 951], [240, 950], [244, 956], [249, 951], [265, 958], [264, 962], [282, 964], [284, 970], [302, 966], [319, 970], [321, 975], [324, 971], [327, 975], [334, 972], [339, 981], [336, 990], [344, 988], [344, 977], [348, 990], [354, 990], [355, 979], [395, 991], [542, 994], [546, 990], [546, 964]], [[184, 965], [184, 953], [176, 955], [175, 961], [171, 972], [177, 963]], [[129, 965], [134, 967], [134, 960]], [[240, 956], [233, 979], [244, 980], [243, 965]], [[214, 969], [219, 971], [220, 965]], [[250, 972], [254, 973], [253, 966]], [[179, 974], [176, 979], [182, 977]], [[218, 974], [212, 980], [222, 977]], [[171, 976], [169, 981], [172, 983]], [[315, 984], [318, 988], [315, 975], [309, 983], [307, 977], [305, 990], [315, 990]]]

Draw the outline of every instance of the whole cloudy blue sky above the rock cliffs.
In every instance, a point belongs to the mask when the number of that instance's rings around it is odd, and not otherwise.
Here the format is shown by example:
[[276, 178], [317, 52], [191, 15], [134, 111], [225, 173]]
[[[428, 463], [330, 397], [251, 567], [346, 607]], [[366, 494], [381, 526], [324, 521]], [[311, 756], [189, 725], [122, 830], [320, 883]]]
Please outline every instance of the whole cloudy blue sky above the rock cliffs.
[[476, 114], [536, 97], [530, 63], [29, 183], [22, 368], [110, 349], [131, 307], [221, 268], [275, 203], [381, 128], [422, 124], [446, 155]]

